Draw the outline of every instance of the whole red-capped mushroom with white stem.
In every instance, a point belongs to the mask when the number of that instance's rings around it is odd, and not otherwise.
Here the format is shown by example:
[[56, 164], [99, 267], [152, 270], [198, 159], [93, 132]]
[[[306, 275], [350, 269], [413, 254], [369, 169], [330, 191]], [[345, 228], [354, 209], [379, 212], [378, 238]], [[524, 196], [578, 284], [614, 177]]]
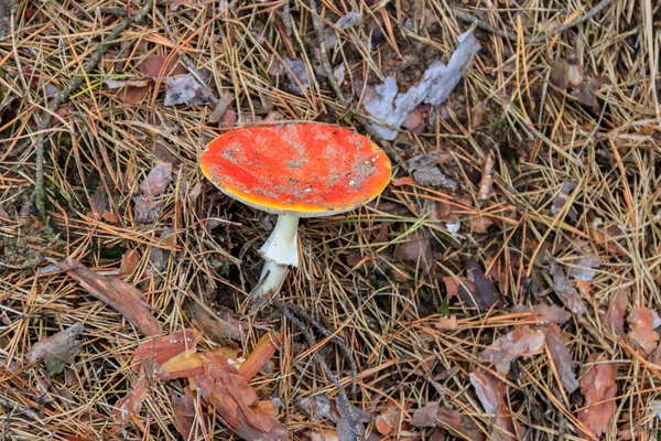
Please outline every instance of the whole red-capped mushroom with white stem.
[[199, 164], [226, 195], [277, 214], [261, 247], [266, 260], [253, 304], [278, 292], [299, 266], [299, 218], [348, 212], [390, 182], [390, 160], [368, 138], [335, 126], [299, 122], [228, 131], [207, 146]]

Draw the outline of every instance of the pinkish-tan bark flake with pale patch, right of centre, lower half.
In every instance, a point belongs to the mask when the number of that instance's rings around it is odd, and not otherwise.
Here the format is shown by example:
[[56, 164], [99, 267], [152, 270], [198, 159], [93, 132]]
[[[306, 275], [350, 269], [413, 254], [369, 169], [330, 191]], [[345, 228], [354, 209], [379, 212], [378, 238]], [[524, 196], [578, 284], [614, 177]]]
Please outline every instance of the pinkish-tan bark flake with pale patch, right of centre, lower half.
[[544, 351], [545, 332], [529, 325], [519, 325], [498, 338], [479, 354], [483, 362], [494, 363], [499, 374], [507, 374], [517, 357], [530, 357]]

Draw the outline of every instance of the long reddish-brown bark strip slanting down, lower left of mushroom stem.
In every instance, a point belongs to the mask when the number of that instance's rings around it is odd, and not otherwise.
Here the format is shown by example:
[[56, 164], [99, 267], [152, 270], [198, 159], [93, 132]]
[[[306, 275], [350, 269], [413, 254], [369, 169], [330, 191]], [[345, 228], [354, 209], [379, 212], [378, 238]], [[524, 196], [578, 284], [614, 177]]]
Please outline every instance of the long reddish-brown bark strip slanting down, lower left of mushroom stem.
[[161, 333], [161, 325], [154, 319], [151, 308], [142, 293], [120, 279], [111, 279], [90, 270], [77, 260], [64, 259], [54, 262], [94, 298], [119, 311], [138, 331], [144, 335]]

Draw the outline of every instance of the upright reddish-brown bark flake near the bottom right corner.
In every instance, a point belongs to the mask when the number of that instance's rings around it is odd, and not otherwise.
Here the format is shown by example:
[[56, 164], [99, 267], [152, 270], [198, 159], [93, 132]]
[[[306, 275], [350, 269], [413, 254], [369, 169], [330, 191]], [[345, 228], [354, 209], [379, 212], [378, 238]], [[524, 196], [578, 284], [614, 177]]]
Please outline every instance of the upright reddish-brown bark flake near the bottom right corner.
[[610, 432], [609, 426], [616, 409], [613, 398], [617, 395], [617, 363], [604, 363], [603, 359], [604, 356], [599, 354], [590, 354], [581, 367], [581, 392], [585, 404], [577, 417], [585, 429], [597, 438]]

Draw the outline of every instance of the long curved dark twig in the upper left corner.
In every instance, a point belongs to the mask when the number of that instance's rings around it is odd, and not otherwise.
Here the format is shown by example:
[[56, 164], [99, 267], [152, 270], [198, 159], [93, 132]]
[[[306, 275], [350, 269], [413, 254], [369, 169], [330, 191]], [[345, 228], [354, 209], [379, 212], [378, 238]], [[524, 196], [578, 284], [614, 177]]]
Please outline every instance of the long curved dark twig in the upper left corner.
[[[46, 218], [47, 218], [46, 193], [44, 190], [44, 143], [46, 141], [46, 130], [47, 130], [48, 126], [51, 125], [53, 115], [55, 114], [55, 111], [57, 110], [57, 108], [59, 106], [62, 106], [66, 100], [68, 100], [72, 93], [75, 89], [77, 89], [78, 87], [80, 87], [80, 85], [83, 84], [83, 82], [85, 79], [85, 76], [89, 75], [96, 68], [97, 64], [104, 57], [104, 54], [108, 51], [109, 44], [111, 42], [113, 42], [119, 36], [119, 34], [122, 31], [124, 31], [130, 24], [137, 23], [140, 20], [142, 20], [151, 11], [152, 6], [153, 6], [153, 0], [147, 0], [144, 6], [142, 7], [142, 9], [136, 15], [126, 17], [124, 19], [122, 19], [122, 21], [112, 30], [112, 32], [108, 35], [108, 37], [106, 37], [101, 42], [101, 44], [99, 45], [97, 51], [91, 55], [91, 57], [87, 61], [87, 63], [85, 63], [85, 65], [83, 66], [83, 72], [85, 74], [74, 77], [74, 79], [72, 79], [69, 82], [69, 84], [67, 84], [66, 87], [64, 89], [62, 89], [62, 92], [59, 92], [59, 94], [57, 94], [55, 96], [55, 98], [51, 101], [51, 105], [48, 106], [48, 112], [46, 112], [46, 115], [44, 115], [44, 118], [40, 122], [39, 128], [37, 128], [39, 135], [36, 137], [36, 142], [35, 142], [36, 172], [35, 172], [35, 176], [34, 176], [33, 198], [34, 198], [34, 205], [36, 206], [36, 209], [39, 212], [39, 216], [43, 220], [46, 220]], [[28, 141], [28, 144], [30, 144], [30, 141]]]

